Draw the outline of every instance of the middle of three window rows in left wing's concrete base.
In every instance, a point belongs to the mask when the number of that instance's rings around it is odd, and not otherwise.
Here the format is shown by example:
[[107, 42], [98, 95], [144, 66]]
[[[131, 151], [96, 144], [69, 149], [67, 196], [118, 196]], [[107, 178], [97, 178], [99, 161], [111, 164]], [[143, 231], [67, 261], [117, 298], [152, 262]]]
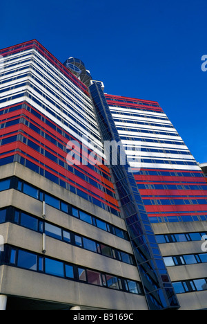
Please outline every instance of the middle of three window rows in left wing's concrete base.
[[[32, 231], [46, 233], [46, 235], [68, 244], [79, 246], [88, 251], [99, 253], [106, 257], [135, 265], [133, 256], [125, 253], [124, 251], [112, 249], [112, 247], [108, 245], [94, 240], [89, 240], [87, 237], [83, 237], [77, 233], [68, 231], [65, 228], [61, 228], [59, 226], [55, 226], [54, 224], [37, 219], [36, 217], [28, 215], [28, 213], [24, 213], [17, 208], [10, 207], [0, 210], [0, 224], [5, 222], [14, 222], [19, 226], [26, 227]], [[99, 225], [98, 222], [97, 224]]]

